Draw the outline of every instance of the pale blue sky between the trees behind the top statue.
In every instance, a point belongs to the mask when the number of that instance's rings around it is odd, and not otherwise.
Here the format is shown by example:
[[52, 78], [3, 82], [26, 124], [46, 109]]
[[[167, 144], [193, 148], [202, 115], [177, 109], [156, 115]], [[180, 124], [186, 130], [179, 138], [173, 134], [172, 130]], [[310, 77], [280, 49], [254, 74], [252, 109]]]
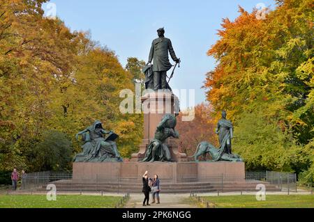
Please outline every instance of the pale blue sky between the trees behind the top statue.
[[[147, 61], [156, 30], [165, 27], [181, 68], [170, 86], [195, 89], [196, 104], [205, 101], [205, 74], [215, 67], [207, 51], [218, 40], [222, 19], [236, 18], [238, 6], [251, 12], [257, 3], [274, 8], [274, 0], [52, 0], [72, 31], [90, 31], [93, 40], [116, 52], [125, 67], [128, 57]], [[46, 6], [44, 6], [45, 9]], [[46, 9], [47, 10], [47, 9]]]

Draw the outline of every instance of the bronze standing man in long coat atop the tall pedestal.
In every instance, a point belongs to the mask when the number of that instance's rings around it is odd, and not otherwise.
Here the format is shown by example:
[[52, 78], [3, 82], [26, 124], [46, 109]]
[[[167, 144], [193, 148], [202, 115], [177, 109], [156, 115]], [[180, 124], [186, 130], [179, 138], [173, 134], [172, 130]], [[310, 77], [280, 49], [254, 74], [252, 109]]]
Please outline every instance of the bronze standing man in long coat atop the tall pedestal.
[[168, 89], [167, 84], [167, 71], [172, 68], [169, 61], [168, 51], [173, 61], [180, 63], [180, 59], [177, 58], [172, 47], [172, 43], [169, 38], [165, 38], [165, 29], [158, 29], [158, 38], [156, 38], [149, 53], [149, 65], [153, 59], [153, 72], [154, 72], [154, 90]]

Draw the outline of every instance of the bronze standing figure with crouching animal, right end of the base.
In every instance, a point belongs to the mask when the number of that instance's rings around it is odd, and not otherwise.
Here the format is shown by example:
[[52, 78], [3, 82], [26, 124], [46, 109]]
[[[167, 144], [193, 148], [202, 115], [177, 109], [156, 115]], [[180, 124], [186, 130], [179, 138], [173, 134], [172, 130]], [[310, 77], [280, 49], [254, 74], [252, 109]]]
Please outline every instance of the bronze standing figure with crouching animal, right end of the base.
[[237, 154], [232, 154], [231, 139], [233, 138], [233, 126], [230, 120], [227, 120], [227, 113], [223, 111], [222, 119], [218, 121], [216, 134], [219, 135], [219, 148], [208, 142], [202, 142], [197, 145], [194, 157], [198, 161], [198, 157], [206, 157], [206, 154], [211, 156], [211, 161], [243, 161]]

